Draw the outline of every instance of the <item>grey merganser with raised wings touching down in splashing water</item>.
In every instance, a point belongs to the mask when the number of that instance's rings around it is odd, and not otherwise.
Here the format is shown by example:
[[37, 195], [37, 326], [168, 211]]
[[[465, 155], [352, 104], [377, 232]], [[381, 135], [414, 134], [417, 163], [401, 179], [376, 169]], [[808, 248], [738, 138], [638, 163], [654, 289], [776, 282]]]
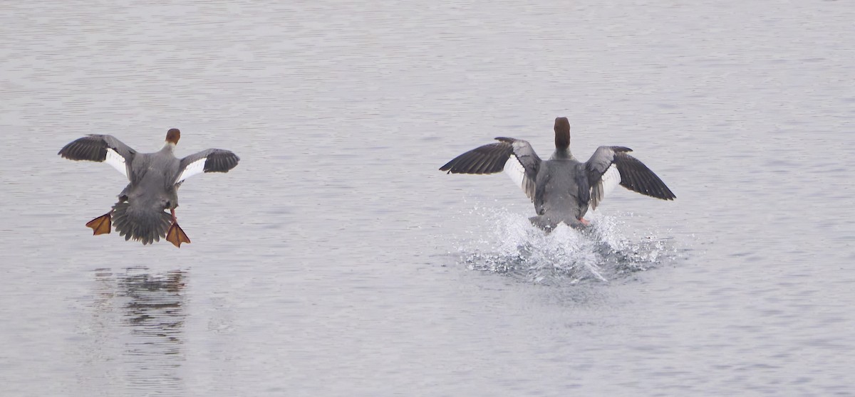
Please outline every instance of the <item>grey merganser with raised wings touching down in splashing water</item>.
[[529, 220], [547, 231], [562, 222], [574, 228], [588, 225], [582, 218], [588, 208], [597, 208], [617, 184], [645, 196], [676, 198], [650, 168], [627, 154], [632, 149], [600, 146], [588, 161], [576, 160], [570, 154], [570, 123], [566, 117], [555, 119], [555, 153], [547, 161], [540, 160], [531, 144], [522, 139], [496, 140], [498, 143], [458, 155], [439, 170], [472, 174], [504, 170], [534, 202], [537, 216]]

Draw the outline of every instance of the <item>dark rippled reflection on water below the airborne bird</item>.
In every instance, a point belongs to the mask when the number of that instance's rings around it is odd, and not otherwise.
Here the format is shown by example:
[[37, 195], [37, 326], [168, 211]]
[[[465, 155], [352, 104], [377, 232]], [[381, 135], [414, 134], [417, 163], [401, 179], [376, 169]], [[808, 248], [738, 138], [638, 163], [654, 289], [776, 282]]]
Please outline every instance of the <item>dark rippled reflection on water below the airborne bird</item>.
[[[183, 388], [180, 374], [185, 361], [183, 331], [186, 318], [186, 271], [152, 273], [132, 267], [124, 274], [97, 269], [96, 310], [116, 318], [126, 384], [147, 392]], [[115, 316], [115, 317], [114, 317]], [[113, 353], [118, 353], [115, 350]]]

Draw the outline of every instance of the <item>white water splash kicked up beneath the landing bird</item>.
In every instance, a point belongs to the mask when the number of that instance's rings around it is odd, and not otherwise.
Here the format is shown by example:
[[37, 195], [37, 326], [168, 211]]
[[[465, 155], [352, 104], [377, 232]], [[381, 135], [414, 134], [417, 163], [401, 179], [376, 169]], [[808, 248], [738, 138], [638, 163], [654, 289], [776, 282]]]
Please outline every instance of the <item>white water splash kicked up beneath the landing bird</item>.
[[[528, 217], [506, 209], [475, 207], [491, 230], [469, 231], [457, 250], [469, 269], [492, 271], [534, 283], [608, 282], [675, 258], [669, 238], [654, 230], [628, 231], [614, 216], [589, 213], [591, 227], [559, 225], [545, 233]], [[621, 219], [632, 218], [622, 214]], [[477, 234], [477, 235], [476, 235]]]

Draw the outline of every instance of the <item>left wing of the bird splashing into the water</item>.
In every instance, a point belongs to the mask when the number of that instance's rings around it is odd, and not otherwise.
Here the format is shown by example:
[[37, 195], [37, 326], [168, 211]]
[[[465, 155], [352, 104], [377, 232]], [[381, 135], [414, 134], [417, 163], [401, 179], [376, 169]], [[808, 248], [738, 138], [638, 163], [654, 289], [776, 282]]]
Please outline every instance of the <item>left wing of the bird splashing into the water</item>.
[[[447, 173], [487, 174], [504, 171], [530, 200], [534, 200], [534, 181], [540, 171], [540, 157], [532, 145], [522, 139], [497, 137], [490, 143], [458, 155], [439, 167]], [[509, 160], [511, 160], [509, 162]]]

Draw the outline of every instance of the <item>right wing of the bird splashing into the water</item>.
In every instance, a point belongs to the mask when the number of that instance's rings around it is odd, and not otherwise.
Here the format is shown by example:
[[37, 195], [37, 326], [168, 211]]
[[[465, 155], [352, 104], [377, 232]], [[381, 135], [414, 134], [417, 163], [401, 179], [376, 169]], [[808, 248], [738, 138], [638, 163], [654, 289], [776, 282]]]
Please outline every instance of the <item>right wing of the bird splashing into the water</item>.
[[645, 196], [674, 200], [676, 196], [665, 183], [641, 161], [628, 155], [632, 149], [622, 146], [600, 146], [585, 163], [591, 186], [590, 206], [595, 209], [618, 184]]

